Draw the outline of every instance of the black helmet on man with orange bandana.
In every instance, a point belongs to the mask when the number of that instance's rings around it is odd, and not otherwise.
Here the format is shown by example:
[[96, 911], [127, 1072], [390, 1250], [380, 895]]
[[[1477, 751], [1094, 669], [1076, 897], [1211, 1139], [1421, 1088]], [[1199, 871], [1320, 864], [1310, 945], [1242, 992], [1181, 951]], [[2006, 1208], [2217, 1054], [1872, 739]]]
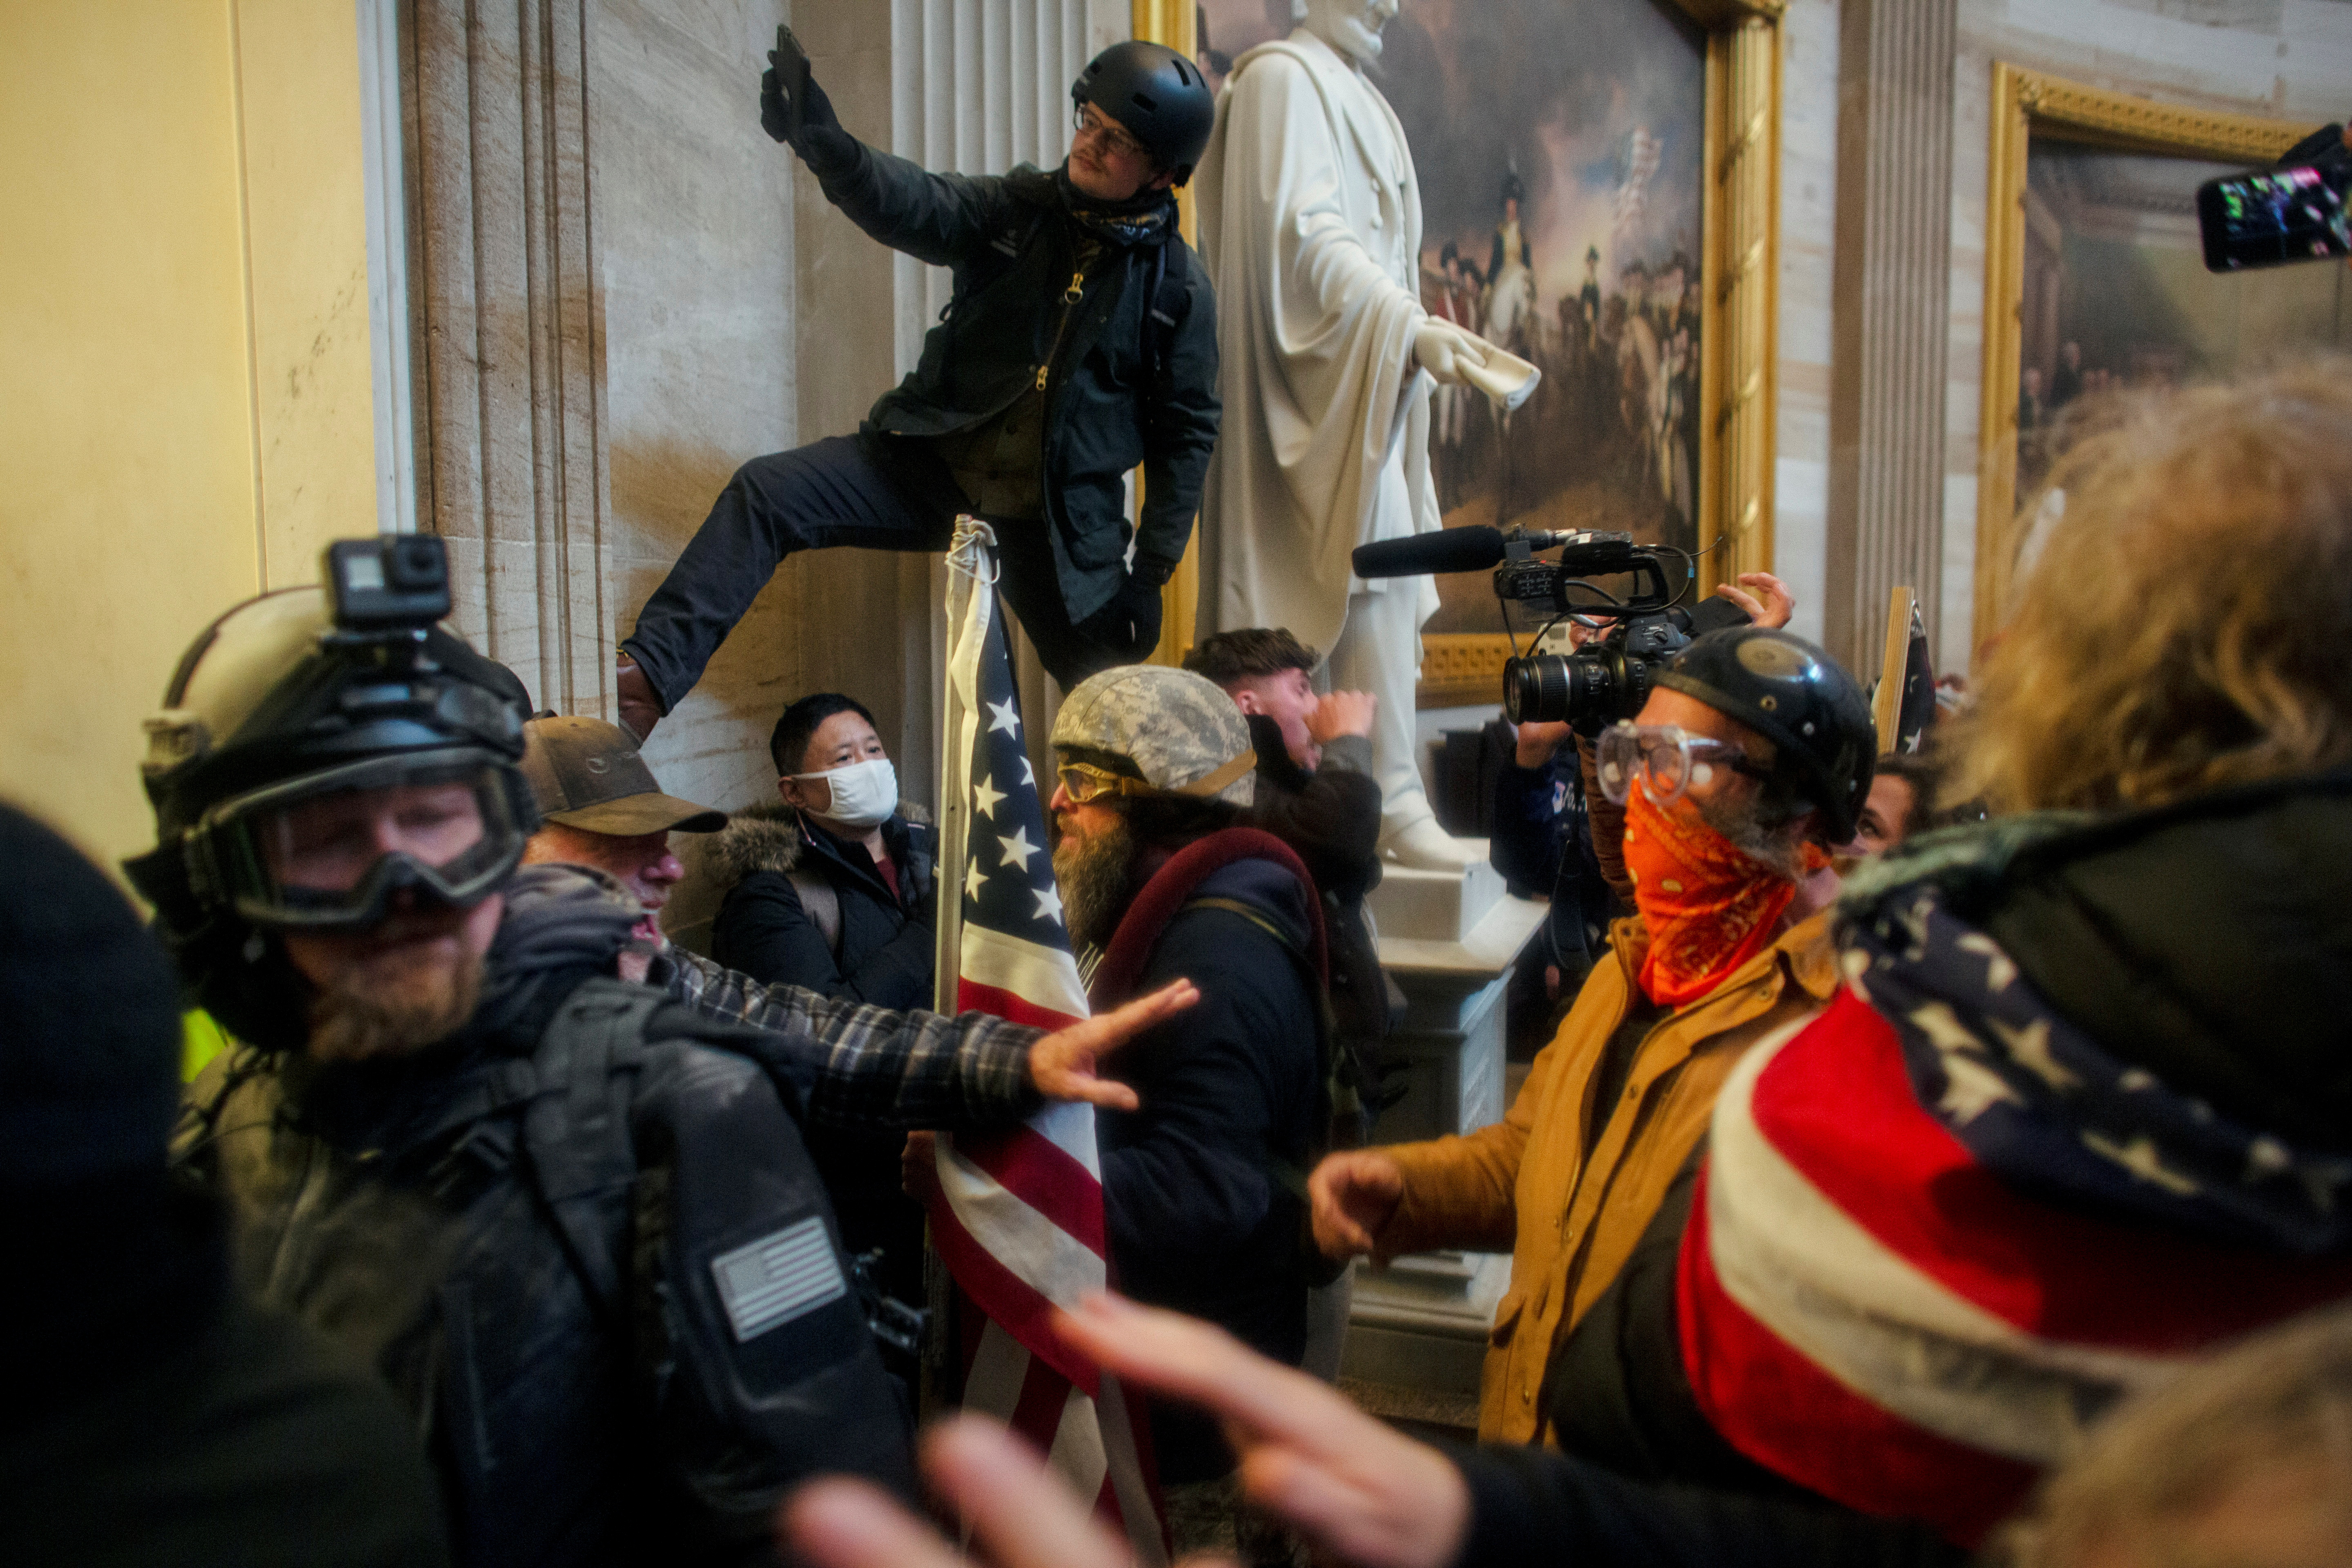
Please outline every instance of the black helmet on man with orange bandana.
[[1820, 811], [1823, 839], [1844, 844], [1870, 799], [1879, 731], [1870, 703], [1835, 658], [1804, 637], [1731, 625], [1691, 639], [1658, 686], [1672, 686], [1773, 743], [1773, 771]]

